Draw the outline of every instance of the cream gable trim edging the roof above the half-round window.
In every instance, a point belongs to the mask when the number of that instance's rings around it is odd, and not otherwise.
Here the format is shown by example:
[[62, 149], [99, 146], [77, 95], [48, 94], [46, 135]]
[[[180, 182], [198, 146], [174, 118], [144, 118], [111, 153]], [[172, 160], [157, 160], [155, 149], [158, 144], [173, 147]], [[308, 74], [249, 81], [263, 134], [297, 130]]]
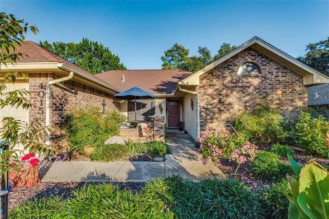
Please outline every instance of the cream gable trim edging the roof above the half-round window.
[[275, 60], [276, 62], [282, 64], [283, 66], [286, 66], [287, 68], [295, 71], [295, 73], [303, 75], [304, 85], [310, 86], [310, 85], [321, 84], [321, 83], [329, 83], [329, 77], [327, 77], [326, 75], [319, 73], [317, 70], [310, 68], [306, 64], [296, 60], [294, 57], [291, 57], [290, 55], [284, 53], [280, 49], [277, 49], [276, 47], [273, 47], [271, 44], [265, 42], [264, 40], [254, 36], [252, 39], [248, 40], [240, 47], [237, 47], [227, 55], [224, 55], [219, 60], [212, 62], [212, 64], [209, 64], [208, 66], [199, 70], [197, 73], [194, 73], [190, 77], [187, 77], [182, 81], [182, 84], [198, 85], [199, 77], [201, 75], [204, 75], [212, 68], [219, 66], [219, 64], [222, 64], [226, 60], [230, 59], [231, 57], [240, 53], [241, 51], [247, 49], [248, 47], [251, 47], [256, 51], [263, 53], [267, 57], [270, 57], [272, 60]]

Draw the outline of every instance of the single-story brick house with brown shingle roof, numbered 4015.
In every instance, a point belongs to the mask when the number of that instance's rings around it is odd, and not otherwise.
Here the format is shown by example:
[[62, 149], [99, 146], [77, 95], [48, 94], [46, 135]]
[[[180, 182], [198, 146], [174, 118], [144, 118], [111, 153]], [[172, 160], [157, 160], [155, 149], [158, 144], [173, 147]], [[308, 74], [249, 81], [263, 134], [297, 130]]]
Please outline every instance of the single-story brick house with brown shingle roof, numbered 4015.
[[[89, 105], [120, 110], [135, 120], [131, 115], [134, 105], [115, 99], [114, 94], [136, 86], [156, 94], [155, 100], [140, 103], [136, 120], [164, 116], [168, 128], [184, 121], [184, 129], [197, 139], [202, 130], [221, 129], [241, 110], [252, 110], [265, 100], [277, 99], [273, 107], [282, 112], [307, 107], [308, 87], [329, 83], [329, 77], [257, 37], [197, 73], [112, 70], [91, 75], [34, 42], [22, 44], [21, 52], [28, 57], [1, 66], [1, 72], [27, 73], [28, 81], [19, 79], [9, 89], [26, 88], [36, 107], [29, 112], [3, 109], [0, 119], [13, 115], [26, 121], [38, 118], [53, 127], [61, 127], [73, 107]], [[52, 140], [62, 137], [57, 132]]]

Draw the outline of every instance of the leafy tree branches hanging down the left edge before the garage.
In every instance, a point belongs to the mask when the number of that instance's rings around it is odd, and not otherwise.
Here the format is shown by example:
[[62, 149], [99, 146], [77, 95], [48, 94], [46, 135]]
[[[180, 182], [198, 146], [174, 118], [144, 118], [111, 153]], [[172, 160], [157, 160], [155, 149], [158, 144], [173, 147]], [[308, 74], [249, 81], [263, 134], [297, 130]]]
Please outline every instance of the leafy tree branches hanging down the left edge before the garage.
[[[25, 40], [27, 30], [31, 30], [34, 34], [38, 29], [34, 26], [29, 26], [24, 20], [19, 20], [13, 14], [0, 13], [0, 64], [7, 66], [16, 64], [19, 57], [24, 54], [17, 50], [21, 42]], [[14, 83], [17, 76], [25, 77], [23, 73], [6, 73], [4, 83], [0, 83], [0, 109], [3, 107], [23, 107], [27, 110], [32, 105], [29, 103], [29, 92], [27, 90], [14, 90], [7, 92], [7, 83]], [[25, 77], [26, 79], [26, 77]], [[16, 120], [12, 117], [4, 118], [1, 121], [3, 127], [0, 128], [0, 179], [1, 189], [4, 192], [8, 188], [8, 171], [14, 166], [10, 165], [18, 159], [20, 153], [17, 146], [23, 145], [24, 150], [38, 152], [39, 154], [46, 153], [48, 147], [42, 144], [42, 136], [48, 133], [48, 129], [41, 127], [38, 121], [27, 124], [21, 120]], [[1, 192], [1, 193], [2, 193]], [[3, 204], [5, 205], [4, 208]], [[1, 218], [7, 218], [8, 214], [8, 194], [1, 195]]]

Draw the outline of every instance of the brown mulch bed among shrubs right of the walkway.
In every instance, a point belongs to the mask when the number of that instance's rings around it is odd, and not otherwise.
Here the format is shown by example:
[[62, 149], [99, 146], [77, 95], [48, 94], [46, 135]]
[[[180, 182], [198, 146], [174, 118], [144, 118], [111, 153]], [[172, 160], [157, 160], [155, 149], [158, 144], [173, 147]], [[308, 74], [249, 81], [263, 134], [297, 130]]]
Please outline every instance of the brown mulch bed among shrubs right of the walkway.
[[[298, 148], [297, 146], [291, 146], [291, 148], [293, 149], [293, 151], [295, 151], [295, 157], [293, 157], [293, 159], [295, 159], [295, 161], [299, 164], [306, 164], [308, 161], [310, 161], [310, 159], [315, 159], [315, 161], [321, 164], [322, 166], [329, 166], [329, 159], [313, 157], [306, 153], [303, 149]], [[258, 150], [266, 151], [267, 149], [269, 149], [269, 146], [258, 146]], [[283, 157], [282, 161], [289, 164], [289, 161], [286, 157]], [[236, 173], [236, 175], [234, 175], [236, 166], [237, 164], [235, 164], [234, 162], [230, 162], [230, 160], [228, 159], [221, 159], [221, 163], [218, 165], [218, 167], [223, 171], [225, 175], [227, 175], [228, 177], [240, 179], [241, 181], [243, 181], [243, 183], [245, 183], [245, 185], [247, 185], [254, 191], [266, 188], [273, 183], [273, 181], [263, 181], [261, 179], [258, 179], [257, 177], [254, 177], [251, 173], [251, 163], [241, 164], [238, 172]]]

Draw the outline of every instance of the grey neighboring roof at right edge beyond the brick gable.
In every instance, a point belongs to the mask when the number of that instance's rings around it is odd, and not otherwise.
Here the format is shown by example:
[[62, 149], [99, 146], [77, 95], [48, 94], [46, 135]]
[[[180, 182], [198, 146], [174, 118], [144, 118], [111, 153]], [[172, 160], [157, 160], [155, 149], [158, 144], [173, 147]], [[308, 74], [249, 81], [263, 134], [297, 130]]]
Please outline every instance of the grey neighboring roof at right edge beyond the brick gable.
[[308, 88], [308, 105], [329, 105], [329, 84]]

